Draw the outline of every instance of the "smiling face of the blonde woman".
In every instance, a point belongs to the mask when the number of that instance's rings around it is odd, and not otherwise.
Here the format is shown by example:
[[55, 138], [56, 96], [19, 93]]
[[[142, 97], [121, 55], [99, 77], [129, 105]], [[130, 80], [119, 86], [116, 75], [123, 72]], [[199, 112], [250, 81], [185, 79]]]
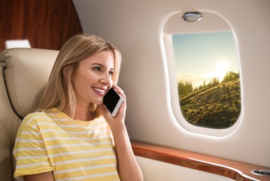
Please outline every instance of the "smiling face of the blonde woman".
[[112, 87], [114, 55], [111, 51], [101, 51], [80, 61], [73, 88], [76, 107], [102, 104], [105, 93]]

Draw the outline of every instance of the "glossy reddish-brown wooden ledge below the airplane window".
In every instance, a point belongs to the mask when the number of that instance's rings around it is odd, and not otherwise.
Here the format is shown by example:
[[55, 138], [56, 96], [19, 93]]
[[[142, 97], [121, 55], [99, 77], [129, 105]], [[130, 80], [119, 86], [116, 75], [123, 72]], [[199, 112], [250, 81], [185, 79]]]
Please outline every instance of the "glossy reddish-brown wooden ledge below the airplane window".
[[185, 166], [199, 171], [206, 171], [232, 178], [234, 180], [270, 180], [268, 176], [254, 175], [253, 170], [270, 170], [264, 166], [237, 162], [196, 152], [188, 152], [159, 145], [131, 141], [133, 152], [140, 157]]

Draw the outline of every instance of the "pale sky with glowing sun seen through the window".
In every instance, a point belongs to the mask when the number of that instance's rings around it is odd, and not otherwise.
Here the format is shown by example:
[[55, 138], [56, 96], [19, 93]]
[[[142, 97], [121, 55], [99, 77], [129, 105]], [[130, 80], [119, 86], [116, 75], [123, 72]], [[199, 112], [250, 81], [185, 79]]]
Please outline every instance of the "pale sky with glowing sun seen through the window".
[[193, 88], [223, 80], [226, 72], [239, 72], [239, 56], [232, 32], [172, 35], [178, 81], [191, 81]]

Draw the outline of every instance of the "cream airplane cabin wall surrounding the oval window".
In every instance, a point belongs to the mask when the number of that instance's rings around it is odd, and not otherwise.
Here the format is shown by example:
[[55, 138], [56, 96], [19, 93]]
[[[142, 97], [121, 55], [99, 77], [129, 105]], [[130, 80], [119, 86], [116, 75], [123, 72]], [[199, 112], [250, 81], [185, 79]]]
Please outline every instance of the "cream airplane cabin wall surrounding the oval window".
[[[269, 0], [73, 0], [84, 33], [110, 40], [123, 55], [119, 85], [127, 96], [130, 138], [270, 166]], [[222, 137], [195, 134], [174, 118], [163, 27], [176, 13], [211, 12], [230, 24], [240, 59], [242, 115]], [[213, 24], [215, 26], [215, 24]]]

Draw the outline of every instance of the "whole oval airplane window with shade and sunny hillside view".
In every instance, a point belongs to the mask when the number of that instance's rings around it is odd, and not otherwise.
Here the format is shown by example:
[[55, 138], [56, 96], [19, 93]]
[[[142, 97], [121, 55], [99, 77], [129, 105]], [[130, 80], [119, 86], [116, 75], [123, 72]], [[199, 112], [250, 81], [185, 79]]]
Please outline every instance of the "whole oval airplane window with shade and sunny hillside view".
[[193, 127], [189, 130], [202, 127], [200, 133], [239, 125], [240, 69], [233, 31], [211, 13], [193, 23], [180, 22], [181, 15], [168, 19], [164, 30], [174, 115], [183, 127]]

